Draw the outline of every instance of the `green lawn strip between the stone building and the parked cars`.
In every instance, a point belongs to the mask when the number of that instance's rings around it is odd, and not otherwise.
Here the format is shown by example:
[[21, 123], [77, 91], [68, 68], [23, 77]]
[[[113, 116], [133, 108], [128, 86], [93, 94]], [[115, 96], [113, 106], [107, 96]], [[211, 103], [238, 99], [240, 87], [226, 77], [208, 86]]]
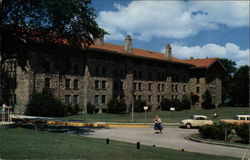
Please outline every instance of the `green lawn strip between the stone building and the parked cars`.
[[[155, 115], [160, 115], [163, 122], [180, 122], [182, 119], [189, 118], [193, 114], [202, 114], [212, 118], [211, 116], [213, 113], [219, 114], [219, 117], [214, 120], [215, 122], [219, 122], [219, 119], [232, 118], [236, 114], [249, 114], [249, 109], [248, 107], [223, 107], [210, 110], [183, 110], [174, 112], [173, 118], [172, 112], [170, 111], [147, 112], [146, 122], [154, 122]], [[131, 122], [131, 114], [88, 114], [69, 116], [62, 119], [99, 122]], [[135, 113], [134, 120], [135, 122], [145, 122], [145, 113]]]

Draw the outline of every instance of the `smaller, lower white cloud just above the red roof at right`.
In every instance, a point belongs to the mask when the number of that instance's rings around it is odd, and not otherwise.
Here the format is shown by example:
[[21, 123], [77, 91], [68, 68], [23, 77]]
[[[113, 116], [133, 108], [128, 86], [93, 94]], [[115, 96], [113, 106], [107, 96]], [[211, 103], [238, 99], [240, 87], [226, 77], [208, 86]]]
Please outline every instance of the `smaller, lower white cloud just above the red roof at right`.
[[[164, 49], [162, 49], [164, 52]], [[204, 46], [182, 46], [179, 44], [172, 44], [173, 56], [180, 59], [194, 58], [227, 58], [234, 60], [237, 66], [249, 65], [250, 50], [240, 50], [240, 48], [233, 43], [226, 43], [225, 46], [217, 44], [206, 44]]]

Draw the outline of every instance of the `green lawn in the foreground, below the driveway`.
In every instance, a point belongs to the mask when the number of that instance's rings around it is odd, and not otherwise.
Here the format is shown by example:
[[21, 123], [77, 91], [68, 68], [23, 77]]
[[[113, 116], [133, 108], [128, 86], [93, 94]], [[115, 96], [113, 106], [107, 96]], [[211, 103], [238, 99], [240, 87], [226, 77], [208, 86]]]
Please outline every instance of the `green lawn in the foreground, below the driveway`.
[[213, 156], [182, 152], [173, 149], [141, 146], [33, 130], [12, 128], [0, 129], [0, 159], [83, 159], [83, 160], [226, 160], [232, 157]]

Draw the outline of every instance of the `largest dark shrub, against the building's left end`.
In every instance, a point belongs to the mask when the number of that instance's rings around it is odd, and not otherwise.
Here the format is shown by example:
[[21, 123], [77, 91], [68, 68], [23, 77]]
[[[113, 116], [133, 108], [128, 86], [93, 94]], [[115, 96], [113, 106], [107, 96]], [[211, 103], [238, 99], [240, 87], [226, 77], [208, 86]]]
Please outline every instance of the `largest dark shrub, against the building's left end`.
[[57, 100], [49, 89], [35, 93], [25, 111], [31, 116], [60, 117], [65, 115], [65, 106]]

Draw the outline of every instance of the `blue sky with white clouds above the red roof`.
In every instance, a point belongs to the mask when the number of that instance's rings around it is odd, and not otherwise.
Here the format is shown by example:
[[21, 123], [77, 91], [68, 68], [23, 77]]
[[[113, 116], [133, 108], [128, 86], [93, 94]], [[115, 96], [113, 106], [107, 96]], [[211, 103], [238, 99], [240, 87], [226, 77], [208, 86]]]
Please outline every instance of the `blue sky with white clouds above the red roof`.
[[180, 59], [219, 57], [249, 64], [248, 1], [92, 0], [109, 43], [164, 52]]

